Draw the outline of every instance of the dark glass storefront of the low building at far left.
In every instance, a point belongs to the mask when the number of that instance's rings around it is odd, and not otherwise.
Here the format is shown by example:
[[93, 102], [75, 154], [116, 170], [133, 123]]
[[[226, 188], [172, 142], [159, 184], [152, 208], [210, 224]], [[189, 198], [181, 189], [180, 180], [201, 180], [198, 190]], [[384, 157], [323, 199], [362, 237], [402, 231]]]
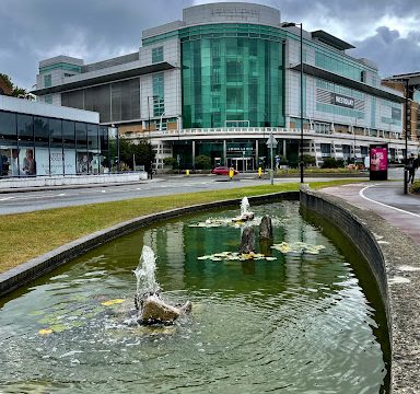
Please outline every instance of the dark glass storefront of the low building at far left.
[[0, 177], [109, 172], [108, 128], [0, 111]]

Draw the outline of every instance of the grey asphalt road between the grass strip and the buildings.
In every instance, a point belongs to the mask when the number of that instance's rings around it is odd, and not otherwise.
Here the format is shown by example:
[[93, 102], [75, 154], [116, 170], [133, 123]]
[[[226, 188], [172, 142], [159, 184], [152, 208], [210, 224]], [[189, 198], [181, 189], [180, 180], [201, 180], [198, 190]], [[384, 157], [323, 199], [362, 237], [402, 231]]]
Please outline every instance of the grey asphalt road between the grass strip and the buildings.
[[[399, 178], [400, 173], [390, 174]], [[311, 181], [330, 181], [330, 178], [307, 178]], [[74, 186], [72, 188], [56, 187], [51, 190], [27, 190], [25, 193], [0, 194], [0, 215], [30, 212], [43, 209], [81, 206], [116, 201], [139, 197], [154, 197], [179, 193], [228, 189], [233, 187], [257, 186], [269, 184], [269, 179], [259, 179], [255, 174], [240, 174], [234, 181], [222, 175], [160, 175], [152, 181], [127, 185], [98, 185], [95, 187]], [[299, 182], [299, 178], [275, 178], [275, 183]]]

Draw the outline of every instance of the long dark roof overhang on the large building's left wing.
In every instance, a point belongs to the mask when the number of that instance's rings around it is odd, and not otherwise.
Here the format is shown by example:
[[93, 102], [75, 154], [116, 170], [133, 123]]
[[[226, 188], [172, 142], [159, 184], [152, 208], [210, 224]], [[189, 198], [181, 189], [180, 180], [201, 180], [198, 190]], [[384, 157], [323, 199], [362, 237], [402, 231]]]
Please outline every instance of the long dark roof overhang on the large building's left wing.
[[[108, 74], [100, 76], [100, 77], [92, 77], [92, 78], [88, 78], [88, 79], [84, 79], [81, 81], [74, 81], [74, 82], [63, 83], [63, 84], [56, 85], [56, 86], [38, 89], [38, 90], [31, 91], [31, 93], [33, 93], [35, 95], [60, 93], [60, 92], [65, 92], [65, 91], [69, 91], [69, 90], [86, 88], [90, 85], [112, 82], [112, 81], [116, 81], [116, 80], [120, 80], [120, 79], [135, 78], [135, 77], [144, 76], [144, 74], [152, 73], [152, 72], [171, 70], [174, 68], [175, 68], [175, 66], [172, 66], [168, 62], [163, 61], [163, 62], [160, 62], [156, 65], [137, 67], [137, 68], [133, 68], [130, 70], [113, 72], [113, 73], [108, 73]], [[81, 76], [83, 76], [83, 74], [81, 74]]]

